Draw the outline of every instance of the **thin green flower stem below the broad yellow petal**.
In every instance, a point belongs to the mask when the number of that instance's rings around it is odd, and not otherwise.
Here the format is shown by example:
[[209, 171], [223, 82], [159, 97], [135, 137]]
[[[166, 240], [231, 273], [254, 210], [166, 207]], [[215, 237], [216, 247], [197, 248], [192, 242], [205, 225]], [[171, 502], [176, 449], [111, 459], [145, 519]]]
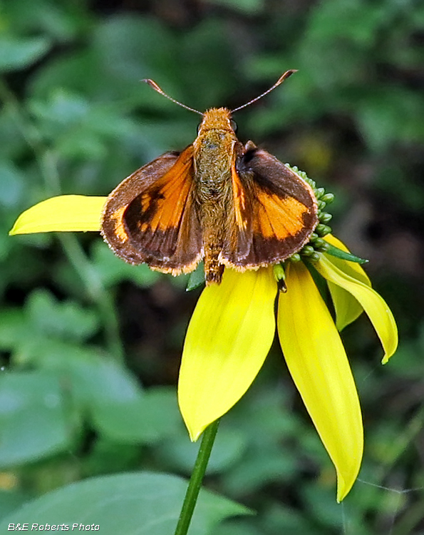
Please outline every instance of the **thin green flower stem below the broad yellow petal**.
[[202, 481], [205, 476], [207, 463], [209, 462], [214, 440], [217, 436], [218, 425], [219, 419], [212, 422], [212, 424], [205, 429], [174, 535], [186, 535], [190, 527], [197, 498], [200, 489], [202, 488]]

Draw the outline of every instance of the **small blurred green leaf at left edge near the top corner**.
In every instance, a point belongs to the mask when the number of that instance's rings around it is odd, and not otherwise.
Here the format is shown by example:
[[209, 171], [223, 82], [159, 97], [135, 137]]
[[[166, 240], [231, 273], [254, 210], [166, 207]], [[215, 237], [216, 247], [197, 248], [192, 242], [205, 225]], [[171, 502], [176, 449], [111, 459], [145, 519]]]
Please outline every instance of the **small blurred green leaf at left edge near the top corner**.
[[16, 71], [41, 59], [51, 48], [47, 37], [18, 39], [14, 36], [0, 37], [0, 71]]

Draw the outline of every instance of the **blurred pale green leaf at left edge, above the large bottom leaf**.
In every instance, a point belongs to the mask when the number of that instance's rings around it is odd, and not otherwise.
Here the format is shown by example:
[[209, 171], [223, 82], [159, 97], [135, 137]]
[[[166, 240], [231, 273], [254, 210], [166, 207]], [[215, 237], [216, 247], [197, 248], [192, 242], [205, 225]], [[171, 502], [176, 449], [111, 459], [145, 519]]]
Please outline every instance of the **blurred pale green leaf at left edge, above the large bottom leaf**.
[[46, 372], [0, 376], [0, 467], [34, 461], [70, 442], [58, 377]]

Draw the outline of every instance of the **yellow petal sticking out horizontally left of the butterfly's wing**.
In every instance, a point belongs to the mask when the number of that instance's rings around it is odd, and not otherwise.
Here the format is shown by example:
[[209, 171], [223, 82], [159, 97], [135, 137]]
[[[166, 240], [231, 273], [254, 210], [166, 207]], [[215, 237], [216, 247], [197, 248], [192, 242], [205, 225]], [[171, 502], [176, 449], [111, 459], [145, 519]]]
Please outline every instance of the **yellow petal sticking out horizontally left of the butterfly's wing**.
[[51, 197], [21, 213], [9, 234], [98, 231], [106, 199], [84, 195]]

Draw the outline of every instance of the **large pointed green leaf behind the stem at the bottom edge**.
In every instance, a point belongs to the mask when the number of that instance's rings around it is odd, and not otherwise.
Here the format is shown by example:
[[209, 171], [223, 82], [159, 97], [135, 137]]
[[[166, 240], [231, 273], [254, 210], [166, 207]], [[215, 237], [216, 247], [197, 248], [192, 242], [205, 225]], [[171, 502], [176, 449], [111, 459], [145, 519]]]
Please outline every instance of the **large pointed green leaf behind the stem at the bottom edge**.
[[[102, 535], [170, 535], [174, 532], [187, 481], [140, 472], [86, 479], [49, 492], [14, 511], [0, 524], [99, 525]], [[207, 490], [200, 491], [190, 535], [205, 535], [219, 521], [249, 510]], [[77, 526], [77, 527], [78, 527]]]

